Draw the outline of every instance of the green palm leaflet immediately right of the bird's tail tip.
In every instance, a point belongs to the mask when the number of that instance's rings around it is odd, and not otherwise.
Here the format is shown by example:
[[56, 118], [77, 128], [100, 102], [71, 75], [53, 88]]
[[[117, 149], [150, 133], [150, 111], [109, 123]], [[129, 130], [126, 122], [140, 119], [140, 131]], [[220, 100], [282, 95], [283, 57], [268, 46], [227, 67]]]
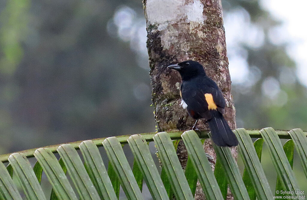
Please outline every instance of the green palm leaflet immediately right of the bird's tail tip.
[[[244, 128], [235, 129], [234, 133], [239, 141], [238, 147], [240, 155], [249, 175], [249, 180], [255, 189], [252, 191], [250, 190], [250, 193], [248, 193], [249, 197], [251, 199], [255, 199], [256, 197], [253, 194], [255, 191], [258, 199], [271, 199], [273, 194], [270, 190], [269, 182], [266, 179], [257, 152], [254, 148], [254, 144], [251, 141], [251, 137]], [[247, 185], [246, 189], [250, 189], [250, 185]]]

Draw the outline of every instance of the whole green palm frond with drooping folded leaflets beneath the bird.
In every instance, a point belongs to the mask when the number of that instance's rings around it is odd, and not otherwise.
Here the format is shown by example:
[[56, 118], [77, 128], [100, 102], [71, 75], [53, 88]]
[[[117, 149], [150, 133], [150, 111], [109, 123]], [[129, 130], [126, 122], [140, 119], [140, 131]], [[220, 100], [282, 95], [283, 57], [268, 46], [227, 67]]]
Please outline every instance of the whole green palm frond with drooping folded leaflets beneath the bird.
[[[228, 147], [213, 145], [217, 161], [212, 171], [201, 140], [211, 137], [208, 131], [123, 135], [0, 155], [0, 199], [21, 199], [23, 195], [27, 199], [118, 199], [120, 185], [128, 199], [143, 199], [143, 180], [153, 199], [169, 199], [173, 195], [176, 199], [194, 199], [197, 180], [207, 199], [225, 199], [228, 185], [235, 199], [273, 199], [274, 194], [278, 195], [277, 190], [299, 190], [292, 171], [293, 150], [297, 150], [307, 176], [305, 131], [239, 128], [234, 133], [245, 166], [243, 177]], [[253, 143], [251, 138], [259, 139]], [[282, 146], [281, 138], [290, 140]], [[177, 158], [178, 139], [183, 139], [188, 150], [186, 171], [182, 170]], [[152, 141], [161, 161], [161, 174], [148, 146]], [[275, 191], [270, 188], [261, 166], [263, 142], [278, 174]], [[134, 156], [132, 169], [122, 149], [127, 143]], [[100, 146], [106, 150], [108, 169], [100, 155]], [[80, 149], [80, 155], [76, 149]], [[56, 159], [56, 153], [60, 160]], [[37, 159], [33, 168], [29, 157]], [[42, 172], [52, 186], [51, 194], [43, 191], [40, 185]], [[13, 175], [18, 184], [13, 181]], [[23, 194], [19, 193], [19, 187]]]

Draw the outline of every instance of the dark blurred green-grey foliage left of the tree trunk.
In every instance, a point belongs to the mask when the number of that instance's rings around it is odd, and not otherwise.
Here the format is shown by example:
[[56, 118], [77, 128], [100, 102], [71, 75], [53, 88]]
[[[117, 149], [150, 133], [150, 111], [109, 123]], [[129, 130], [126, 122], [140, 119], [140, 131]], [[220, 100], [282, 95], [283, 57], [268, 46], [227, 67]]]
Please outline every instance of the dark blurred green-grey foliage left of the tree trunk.
[[0, 2], [0, 154], [155, 130], [149, 70], [107, 33], [124, 4]]

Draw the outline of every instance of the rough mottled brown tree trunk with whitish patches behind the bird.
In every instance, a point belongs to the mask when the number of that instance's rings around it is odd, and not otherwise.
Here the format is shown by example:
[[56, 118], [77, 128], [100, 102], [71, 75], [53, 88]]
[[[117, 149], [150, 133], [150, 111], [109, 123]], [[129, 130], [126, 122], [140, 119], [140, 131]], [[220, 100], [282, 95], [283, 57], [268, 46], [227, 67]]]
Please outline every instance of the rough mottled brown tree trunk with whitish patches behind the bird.
[[[234, 129], [235, 107], [231, 96], [221, 0], [143, 0], [143, 5], [158, 131], [190, 130], [195, 122], [179, 106], [179, 73], [166, 68], [185, 60], [199, 61], [207, 75], [219, 85], [226, 100], [224, 117]], [[197, 128], [208, 129], [208, 125], [200, 120]], [[184, 145], [178, 147], [177, 153], [185, 168], [187, 153]], [[204, 148], [215, 163], [210, 140], [205, 141]], [[232, 151], [236, 156], [235, 149]], [[203, 198], [200, 188], [196, 191], [196, 199]]]

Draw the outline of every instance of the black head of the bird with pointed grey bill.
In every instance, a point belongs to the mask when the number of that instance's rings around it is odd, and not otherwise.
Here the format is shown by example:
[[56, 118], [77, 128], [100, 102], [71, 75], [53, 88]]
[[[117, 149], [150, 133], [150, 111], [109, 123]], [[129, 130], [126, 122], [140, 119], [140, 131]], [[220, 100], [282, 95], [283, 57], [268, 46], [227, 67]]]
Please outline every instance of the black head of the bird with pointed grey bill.
[[188, 80], [197, 75], [206, 75], [203, 66], [197, 61], [183, 61], [175, 65], [169, 65], [167, 68], [177, 70], [182, 80]]

